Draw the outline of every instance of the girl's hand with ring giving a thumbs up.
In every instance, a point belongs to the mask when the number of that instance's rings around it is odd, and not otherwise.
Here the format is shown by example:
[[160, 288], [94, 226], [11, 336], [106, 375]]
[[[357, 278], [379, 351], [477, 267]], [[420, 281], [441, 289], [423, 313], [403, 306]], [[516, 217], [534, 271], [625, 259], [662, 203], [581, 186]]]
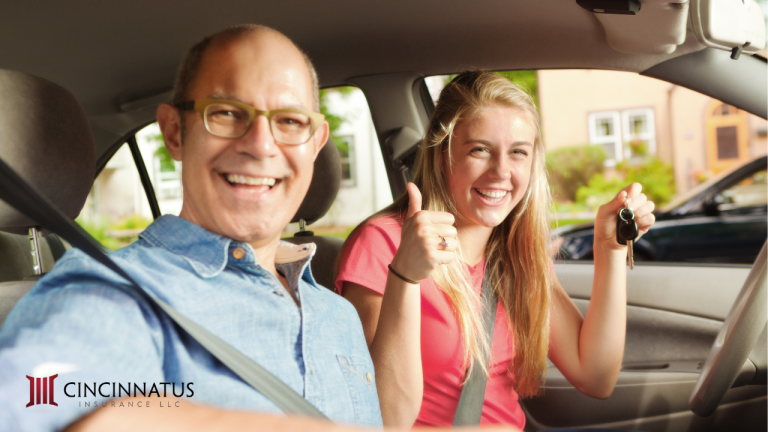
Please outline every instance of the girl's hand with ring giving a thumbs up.
[[458, 246], [457, 231], [450, 213], [421, 209], [421, 191], [408, 183], [408, 212], [403, 222], [400, 247], [392, 259], [394, 270], [409, 279], [420, 281], [432, 275], [441, 264], [454, 260]]

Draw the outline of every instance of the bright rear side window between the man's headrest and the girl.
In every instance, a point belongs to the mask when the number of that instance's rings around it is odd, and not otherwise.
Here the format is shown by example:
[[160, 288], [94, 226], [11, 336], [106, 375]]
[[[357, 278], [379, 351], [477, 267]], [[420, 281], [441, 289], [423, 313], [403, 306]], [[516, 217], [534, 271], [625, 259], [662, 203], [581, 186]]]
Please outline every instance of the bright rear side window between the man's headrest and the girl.
[[[363, 92], [356, 87], [320, 91], [321, 111], [341, 159], [341, 188], [328, 213], [308, 229], [346, 238], [357, 224], [392, 203], [381, 147]], [[286, 228], [283, 236], [298, 231]]]

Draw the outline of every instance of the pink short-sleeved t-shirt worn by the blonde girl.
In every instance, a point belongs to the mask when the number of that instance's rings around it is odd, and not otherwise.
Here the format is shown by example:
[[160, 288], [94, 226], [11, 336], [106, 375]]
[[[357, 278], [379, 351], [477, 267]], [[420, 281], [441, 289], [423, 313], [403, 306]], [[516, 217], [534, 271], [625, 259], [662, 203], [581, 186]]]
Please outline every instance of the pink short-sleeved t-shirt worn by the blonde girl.
[[[400, 246], [402, 226], [397, 219], [373, 219], [357, 229], [344, 250], [336, 288], [352, 282], [384, 295], [387, 266]], [[480, 295], [485, 261], [467, 266], [472, 285]], [[450, 300], [432, 278], [421, 282], [421, 360], [424, 399], [416, 426], [450, 426], [461, 395], [463, 346], [459, 325]], [[507, 327], [507, 314], [499, 302], [491, 352], [491, 378], [485, 390], [480, 424], [511, 424], [523, 429], [525, 415], [513, 388], [509, 371], [514, 355]]]

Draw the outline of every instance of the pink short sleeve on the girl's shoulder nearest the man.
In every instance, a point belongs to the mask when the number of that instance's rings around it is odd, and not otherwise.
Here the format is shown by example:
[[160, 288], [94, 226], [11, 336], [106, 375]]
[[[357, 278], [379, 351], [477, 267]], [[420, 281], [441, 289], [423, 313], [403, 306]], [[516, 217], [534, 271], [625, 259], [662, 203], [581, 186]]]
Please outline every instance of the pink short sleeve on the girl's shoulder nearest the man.
[[356, 229], [341, 255], [336, 289], [342, 293], [344, 282], [364, 286], [384, 295], [387, 266], [400, 245], [400, 225], [390, 218], [368, 221]]

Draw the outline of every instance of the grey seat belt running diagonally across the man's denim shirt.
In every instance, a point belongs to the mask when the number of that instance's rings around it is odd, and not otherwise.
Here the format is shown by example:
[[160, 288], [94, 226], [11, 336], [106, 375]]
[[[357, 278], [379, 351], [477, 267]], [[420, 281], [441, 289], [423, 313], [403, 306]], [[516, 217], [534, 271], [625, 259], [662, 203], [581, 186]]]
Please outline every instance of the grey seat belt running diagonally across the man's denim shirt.
[[70, 221], [45, 196], [24, 181], [2, 158], [0, 158], [0, 199], [127, 280], [128, 285], [125, 286], [125, 289], [165, 312], [172, 321], [197, 340], [211, 355], [232, 370], [240, 379], [272, 401], [283, 412], [327, 419], [320, 410], [271, 372], [179, 313], [162, 299], [143, 290], [133, 278], [100, 250], [93, 237]]

